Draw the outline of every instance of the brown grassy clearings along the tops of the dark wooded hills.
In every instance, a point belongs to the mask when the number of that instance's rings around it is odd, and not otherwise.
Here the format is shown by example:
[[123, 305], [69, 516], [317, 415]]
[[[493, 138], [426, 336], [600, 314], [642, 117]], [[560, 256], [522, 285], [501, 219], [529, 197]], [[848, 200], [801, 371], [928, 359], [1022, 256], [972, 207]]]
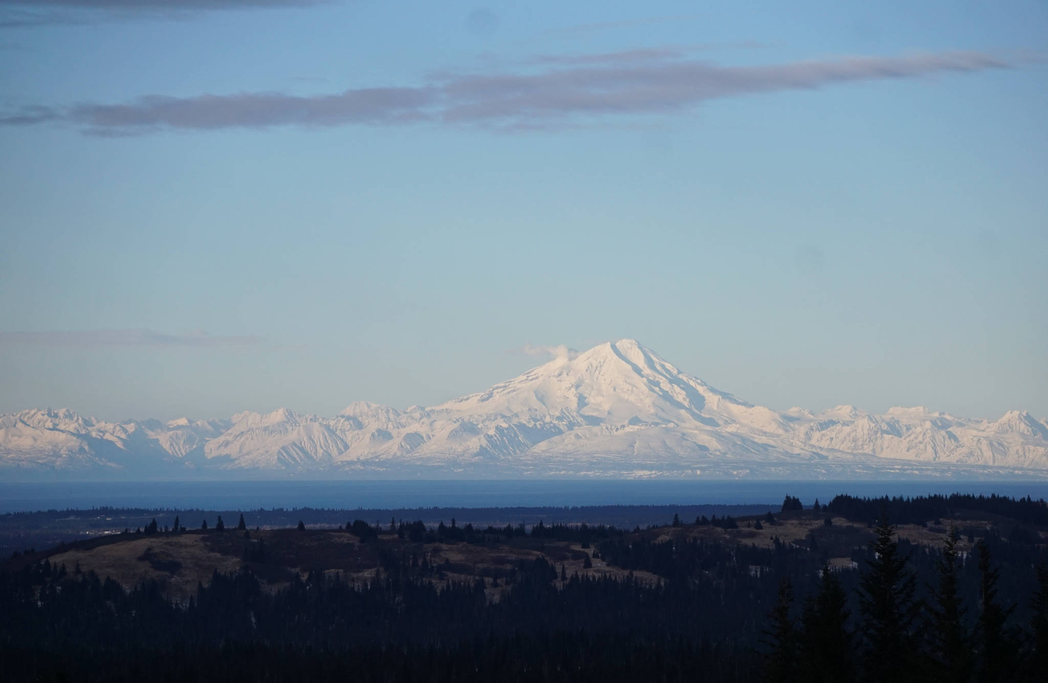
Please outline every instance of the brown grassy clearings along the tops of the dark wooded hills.
[[[757, 520], [762, 521], [763, 528], [754, 528]], [[836, 567], [850, 566], [852, 549], [867, 545], [872, 538], [872, 531], [865, 524], [832, 517], [832, 524], [827, 525], [826, 516], [810, 511], [777, 514], [774, 525], [767, 524], [763, 516], [741, 517], [738, 522], [738, 529], [685, 524], [680, 527], [645, 530], [640, 535], [652, 541], [705, 538], [763, 547], [771, 547], [776, 538], [780, 543], [805, 547], [810, 546], [814, 539]], [[943, 525], [927, 527], [902, 525], [897, 531], [900, 537], [913, 543], [939, 546], [948, 524], [949, 521], [945, 521]], [[963, 521], [965, 526], [988, 527], [991, 524], [992, 521], [989, 520]], [[250, 558], [250, 561], [245, 563], [245, 546], [260, 541], [265, 546], [265, 556]], [[970, 550], [970, 545], [962, 538], [959, 549]], [[167, 594], [183, 599], [195, 593], [198, 582], [208, 582], [214, 571], [233, 572], [245, 564], [271, 590], [286, 586], [296, 574], [304, 577], [310, 571], [339, 574], [349, 581], [366, 581], [374, 575], [379, 565], [380, 551], [414, 555], [419, 561], [424, 558], [436, 569], [435, 580], [438, 581], [472, 581], [480, 576], [487, 582], [497, 579], [502, 585], [512, 574], [519, 560], [539, 556], [551, 561], [559, 574], [563, 566], [569, 577], [578, 573], [617, 578], [629, 573], [610, 567], [599, 558], [592, 559], [591, 568], [584, 568], [584, 561], [588, 555], [592, 555], [593, 549], [583, 549], [580, 544], [515, 537], [501, 544], [423, 545], [398, 538], [392, 533], [381, 534], [377, 544], [362, 544], [350, 533], [324, 529], [256, 530], [248, 532], [246, 536], [238, 531], [111, 536], [105, 541], [56, 548], [46, 554], [52, 564], [65, 564], [68, 571], [73, 571], [79, 564], [84, 572], [94, 571], [100, 576], [111, 576], [126, 587], [155, 579]], [[659, 580], [657, 576], [647, 572], [633, 574], [645, 582]], [[488, 592], [497, 596], [500, 590], [490, 588]]]

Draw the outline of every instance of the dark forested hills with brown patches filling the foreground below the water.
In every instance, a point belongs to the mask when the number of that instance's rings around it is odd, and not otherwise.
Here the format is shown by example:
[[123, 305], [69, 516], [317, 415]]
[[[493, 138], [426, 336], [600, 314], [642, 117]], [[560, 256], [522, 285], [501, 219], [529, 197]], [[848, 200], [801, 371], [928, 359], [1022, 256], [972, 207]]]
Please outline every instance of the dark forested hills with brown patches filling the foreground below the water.
[[1038, 503], [961, 503], [897, 528], [843, 498], [651, 528], [150, 520], [7, 560], [0, 659], [17, 681], [1039, 680]]

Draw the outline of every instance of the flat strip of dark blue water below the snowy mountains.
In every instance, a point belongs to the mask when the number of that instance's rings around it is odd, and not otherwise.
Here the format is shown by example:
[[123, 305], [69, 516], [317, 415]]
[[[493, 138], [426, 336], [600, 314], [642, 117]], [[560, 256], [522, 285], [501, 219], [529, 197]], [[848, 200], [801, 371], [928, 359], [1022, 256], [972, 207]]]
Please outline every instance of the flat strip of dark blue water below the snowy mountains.
[[921, 495], [998, 493], [1048, 498], [1046, 482], [864, 481], [257, 481], [0, 483], [0, 513], [65, 508], [417, 508], [584, 505], [806, 505], [837, 493]]

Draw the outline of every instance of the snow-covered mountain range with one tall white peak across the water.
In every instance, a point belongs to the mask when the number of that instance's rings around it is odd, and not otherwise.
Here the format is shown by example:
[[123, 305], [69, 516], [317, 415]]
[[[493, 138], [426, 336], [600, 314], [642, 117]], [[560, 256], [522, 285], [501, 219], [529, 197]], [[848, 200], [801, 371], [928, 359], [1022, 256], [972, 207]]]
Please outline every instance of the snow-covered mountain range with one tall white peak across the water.
[[1048, 479], [1048, 421], [923, 407], [780, 413], [621, 339], [431, 407], [170, 422], [2, 415], [0, 477]]

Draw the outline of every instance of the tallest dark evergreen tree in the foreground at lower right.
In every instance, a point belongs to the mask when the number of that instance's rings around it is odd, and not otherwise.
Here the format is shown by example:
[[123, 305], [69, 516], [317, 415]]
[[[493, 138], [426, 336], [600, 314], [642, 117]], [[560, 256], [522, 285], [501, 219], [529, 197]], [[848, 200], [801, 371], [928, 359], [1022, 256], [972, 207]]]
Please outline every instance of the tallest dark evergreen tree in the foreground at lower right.
[[907, 568], [909, 557], [899, 553], [894, 534], [895, 527], [882, 513], [870, 545], [873, 558], [867, 560], [867, 572], [859, 579], [858, 602], [868, 641], [866, 673], [873, 681], [919, 678], [913, 633], [920, 611], [914, 598], [917, 577]]

